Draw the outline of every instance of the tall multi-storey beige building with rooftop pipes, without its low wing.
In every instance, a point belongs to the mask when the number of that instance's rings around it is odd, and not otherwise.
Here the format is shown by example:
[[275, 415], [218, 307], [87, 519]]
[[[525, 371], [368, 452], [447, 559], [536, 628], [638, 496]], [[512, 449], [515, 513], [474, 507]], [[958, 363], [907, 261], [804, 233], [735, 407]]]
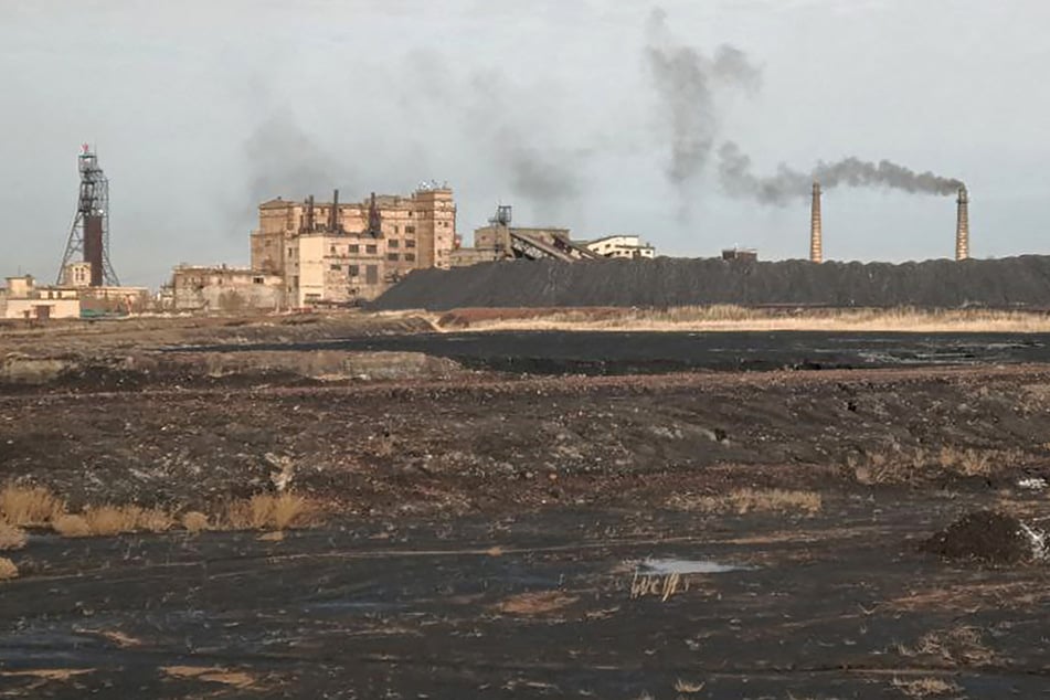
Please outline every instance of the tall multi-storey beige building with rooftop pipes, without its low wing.
[[370, 300], [414, 269], [449, 267], [456, 205], [447, 188], [340, 203], [275, 199], [259, 205], [252, 271], [283, 280], [291, 307]]

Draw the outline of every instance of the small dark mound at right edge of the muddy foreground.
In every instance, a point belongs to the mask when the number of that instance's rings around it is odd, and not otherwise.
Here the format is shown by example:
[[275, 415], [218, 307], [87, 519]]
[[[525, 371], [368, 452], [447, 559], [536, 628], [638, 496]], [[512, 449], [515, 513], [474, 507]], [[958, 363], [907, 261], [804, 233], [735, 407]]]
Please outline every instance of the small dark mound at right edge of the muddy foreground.
[[1019, 564], [1046, 558], [1044, 537], [1024, 522], [994, 510], [969, 513], [926, 541], [944, 559]]

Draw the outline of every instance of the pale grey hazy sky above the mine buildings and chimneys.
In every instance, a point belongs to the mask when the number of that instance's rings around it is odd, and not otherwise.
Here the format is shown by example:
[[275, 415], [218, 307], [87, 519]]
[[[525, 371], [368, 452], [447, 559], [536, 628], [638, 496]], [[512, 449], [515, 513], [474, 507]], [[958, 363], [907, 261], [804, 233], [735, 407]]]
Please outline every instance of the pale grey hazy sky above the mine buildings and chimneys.
[[[759, 177], [856, 157], [964, 181], [975, 257], [1048, 253], [1047, 26], [1044, 0], [0, 0], [0, 275], [55, 277], [83, 142], [116, 273], [155, 288], [246, 265], [267, 199], [432, 180], [468, 244], [503, 203], [659, 254], [806, 257], [808, 200], [734, 192], [728, 142]], [[954, 197], [823, 209], [828, 259], [954, 254]]]

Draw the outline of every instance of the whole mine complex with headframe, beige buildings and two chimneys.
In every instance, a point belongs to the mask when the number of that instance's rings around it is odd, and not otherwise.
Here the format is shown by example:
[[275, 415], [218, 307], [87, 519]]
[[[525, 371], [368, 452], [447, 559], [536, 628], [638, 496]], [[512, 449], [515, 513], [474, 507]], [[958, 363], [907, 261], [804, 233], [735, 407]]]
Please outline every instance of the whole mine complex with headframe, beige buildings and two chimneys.
[[[0, 318], [78, 318], [136, 311], [279, 311], [359, 306], [376, 299], [418, 269], [450, 269], [511, 259], [564, 263], [602, 258], [651, 259], [656, 248], [638, 235], [577, 240], [565, 227], [519, 226], [500, 204], [464, 245], [453, 190], [421, 183], [409, 194], [375, 194], [341, 202], [275, 199], [258, 204], [251, 232], [251, 264], [180, 264], [152, 295], [121, 286], [110, 263], [109, 182], [95, 151], [77, 158], [79, 189], [65, 252], [54, 284], [32, 276], [7, 279]], [[969, 257], [969, 197], [958, 188], [955, 259]], [[821, 188], [813, 183], [809, 261], [825, 261]], [[725, 262], [755, 262], [757, 251], [722, 251]]]

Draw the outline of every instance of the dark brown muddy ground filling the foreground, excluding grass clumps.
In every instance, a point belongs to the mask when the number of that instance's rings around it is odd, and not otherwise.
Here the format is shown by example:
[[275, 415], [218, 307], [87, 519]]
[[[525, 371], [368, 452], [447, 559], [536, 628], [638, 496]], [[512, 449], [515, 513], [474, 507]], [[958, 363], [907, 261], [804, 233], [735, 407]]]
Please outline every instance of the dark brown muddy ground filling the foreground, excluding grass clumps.
[[[273, 490], [276, 462], [328, 512], [282, 541], [34, 532], [0, 583], [0, 697], [1050, 687], [1050, 569], [923, 547], [980, 508], [1050, 522], [1048, 365], [528, 376], [402, 358], [376, 378], [253, 352], [183, 353], [181, 383], [6, 385], [0, 474], [71, 507], [206, 509]], [[715, 512], [773, 488], [820, 506]]]

